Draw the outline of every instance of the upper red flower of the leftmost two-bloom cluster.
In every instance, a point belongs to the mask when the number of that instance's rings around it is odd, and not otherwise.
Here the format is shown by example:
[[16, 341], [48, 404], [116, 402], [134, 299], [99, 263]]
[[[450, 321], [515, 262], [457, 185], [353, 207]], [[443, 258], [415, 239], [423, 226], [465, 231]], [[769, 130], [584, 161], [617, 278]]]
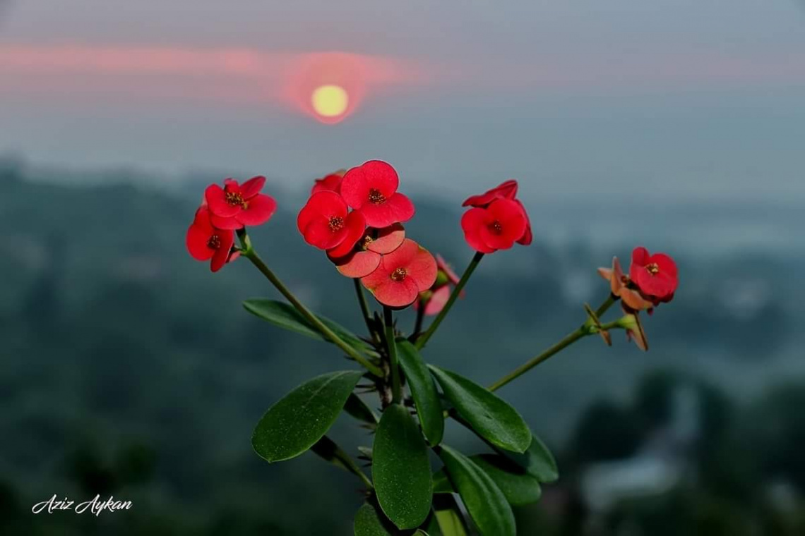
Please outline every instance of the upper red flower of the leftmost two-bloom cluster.
[[277, 210], [274, 198], [261, 194], [265, 177], [254, 177], [238, 185], [233, 178], [224, 181], [224, 187], [211, 184], [204, 198], [212, 215], [213, 225], [219, 229], [240, 229], [244, 225], [262, 225]]

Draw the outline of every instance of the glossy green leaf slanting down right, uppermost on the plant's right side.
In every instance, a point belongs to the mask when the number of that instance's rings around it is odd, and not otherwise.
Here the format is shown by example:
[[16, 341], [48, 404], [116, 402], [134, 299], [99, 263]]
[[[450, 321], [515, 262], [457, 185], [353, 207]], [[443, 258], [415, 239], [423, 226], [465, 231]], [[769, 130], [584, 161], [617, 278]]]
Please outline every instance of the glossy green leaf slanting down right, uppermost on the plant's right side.
[[456, 408], [473, 432], [489, 443], [514, 452], [531, 444], [526, 421], [503, 399], [455, 372], [428, 365], [439, 380], [445, 398]]

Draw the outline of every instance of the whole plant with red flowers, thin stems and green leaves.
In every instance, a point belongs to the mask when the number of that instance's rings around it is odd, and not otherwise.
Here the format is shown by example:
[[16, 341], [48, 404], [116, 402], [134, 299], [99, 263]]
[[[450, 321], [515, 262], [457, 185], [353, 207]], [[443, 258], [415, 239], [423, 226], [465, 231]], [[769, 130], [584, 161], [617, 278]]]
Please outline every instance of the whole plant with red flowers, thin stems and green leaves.
[[[258, 256], [246, 226], [266, 223], [275, 211], [274, 199], [260, 193], [264, 182], [256, 177], [239, 185], [226, 179], [223, 188], [209, 186], [188, 229], [188, 251], [197, 260], [211, 260], [213, 272], [237, 256], [246, 257], [287, 300], [247, 300], [246, 310], [332, 343], [356, 366], [312, 378], [271, 406], [254, 429], [254, 450], [269, 462], [312, 450], [359, 478], [365, 504], [355, 514], [357, 536], [455, 536], [469, 533], [470, 520], [481, 534], [516, 534], [511, 505], [538, 501], [540, 486], [555, 481], [559, 473], [543, 442], [493, 391], [588, 335], [599, 334], [611, 345], [610, 332], [623, 329], [627, 338], [647, 350], [639, 313], [652, 313], [660, 303], [671, 301], [677, 287], [674, 261], [635, 248], [628, 276], [617, 258], [612, 268], [599, 268], [609, 281], [603, 303], [597, 309], [585, 304], [585, 319], [578, 328], [489, 387], [481, 387], [427, 363], [423, 349], [485, 255], [531, 243], [516, 181], [464, 202], [470, 208], [460, 226], [476, 253], [460, 277], [440, 256], [435, 259], [406, 235], [403, 223], [414, 216], [415, 208], [398, 192], [392, 166], [374, 160], [316, 181], [299, 211], [297, 227], [338, 272], [353, 279], [367, 329], [363, 336], [312, 313]], [[233, 243], [235, 234], [239, 245]], [[369, 305], [365, 290], [378, 302], [379, 312]], [[623, 315], [603, 322], [601, 317], [617, 301]], [[417, 318], [413, 332], [403, 333], [394, 312], [409, 306], [417, 309]], [[425, 329], [424, 319], [431, 315], [436, 318]], [[358, 396], [367, 393], [379, 395], [379, 417], [372, 404]], [[368, 462], [369, 474], [327, 436], [342, 411], [374, 432], [370, 446], [357, 448], [357, 458]], [[467, 456], [450, 447], [444, 438], [447, 418], [477, 434], [488, 452]], [[439, 466], [431, 464], [429, 450]], [[464, 511], [470, 519], [464, 518]]]

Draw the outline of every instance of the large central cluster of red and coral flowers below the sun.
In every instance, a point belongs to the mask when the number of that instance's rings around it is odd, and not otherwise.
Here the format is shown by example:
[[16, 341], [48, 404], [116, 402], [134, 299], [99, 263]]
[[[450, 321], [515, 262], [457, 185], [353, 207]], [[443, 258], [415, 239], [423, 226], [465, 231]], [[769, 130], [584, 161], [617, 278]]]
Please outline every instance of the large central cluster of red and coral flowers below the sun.
[[296, 226], [305, 242], [324, 250], [344, 276], [360, 279], [389, 307], [407, 307], [436, 281], [436, 260], [403, 223], [414, 203], [397, 191], [397, 171], [370, 160], [344, 174], [316, 180]]

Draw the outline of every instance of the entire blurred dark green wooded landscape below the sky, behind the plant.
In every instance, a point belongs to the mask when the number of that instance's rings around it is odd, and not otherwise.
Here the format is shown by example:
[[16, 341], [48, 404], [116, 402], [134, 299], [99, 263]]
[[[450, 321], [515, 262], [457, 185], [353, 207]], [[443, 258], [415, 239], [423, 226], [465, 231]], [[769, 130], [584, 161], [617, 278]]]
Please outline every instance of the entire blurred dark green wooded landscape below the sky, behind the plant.
[[[361, 495], [349, 474], [309, 453], [269, 465], [250, 446], [279, 396], [349, 363], [247, 314], [243, 299], [276, 297], [249, 264], [213, 275], [187, 255], [203, 182], [114, 179], [68, 186], [0, 162], [0, 534], [352, 534]], [[280, 209], [251, 232], [256, 248], [312, 309], [359, 331], [352, 284], [295, 229], [301, 194], [270, 184]], [[407, 193], [418, 209], [409, 235], [461, 271], [472, 255], [460, 199]], [[613, 254], [628, 263], [646, 245], [678, 260], [675, 302], [646, 320], [649, 353], [622, 333], [613, 348], [588, 338], [500, 391], [562, 473], [517, 509], [520, 533], [805, 534], [802, 243], [772, 247], [761, 232], [756, 249], [696, 244], [700, 231], [743, 232], [737, 222], [753, 219], [801, 228], [801, 214], [646, 207], [653, 219], [628, 218], [657, 239], [636, 244], [607, 227], [626, 217], [601, 204], [530, 204], [535, 246], [484, 260], [427, 350], [490, 383], [583, 321], [584, 301], [605, 298], [595, 268]], [[595, 222], [608, 240], [545, 239], [564, 219]], [[672, 251], [673, 226], [687, 234]], [[371, 440], [347, 419], [332, 435], [356, 454]], [[448, 437], [476, 444], [459, 428]], [[32, 515], [53, 493], [134, 506]]]

